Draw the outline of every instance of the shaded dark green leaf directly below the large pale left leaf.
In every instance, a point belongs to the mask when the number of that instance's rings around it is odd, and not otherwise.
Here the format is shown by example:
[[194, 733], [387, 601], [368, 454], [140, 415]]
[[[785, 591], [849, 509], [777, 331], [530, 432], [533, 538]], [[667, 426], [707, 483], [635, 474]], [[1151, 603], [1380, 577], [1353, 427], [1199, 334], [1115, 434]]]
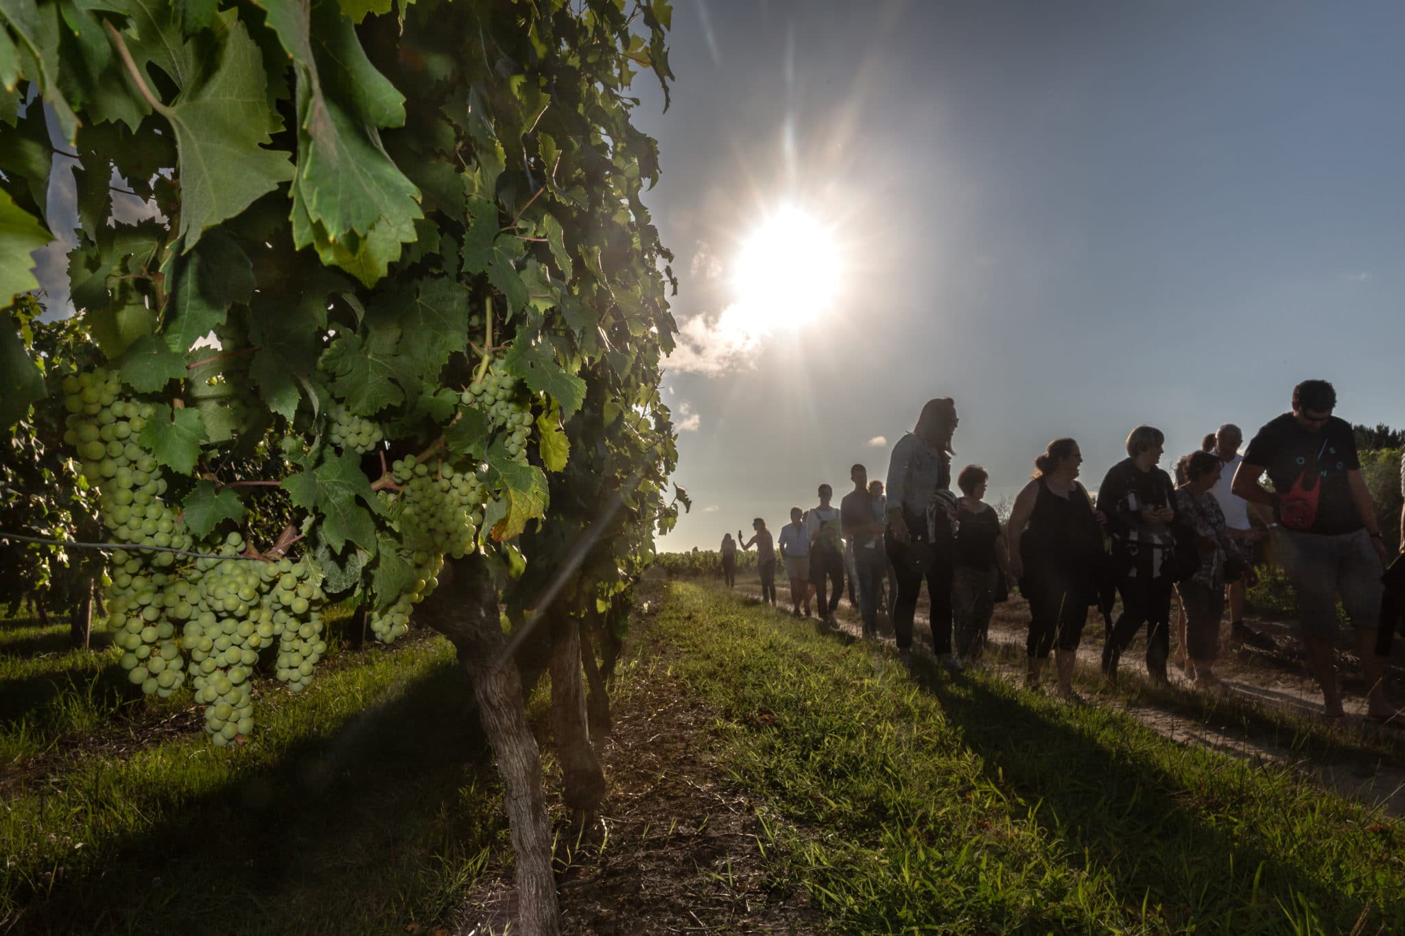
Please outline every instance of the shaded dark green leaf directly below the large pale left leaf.
[[180, 354], [225, 324], [229, 306], [244, 305], [254, 295], [249, 257], [221, 230], [207, 234], [190, 253], [173, 253], [166, 267], [170, 297], [163, 333]]

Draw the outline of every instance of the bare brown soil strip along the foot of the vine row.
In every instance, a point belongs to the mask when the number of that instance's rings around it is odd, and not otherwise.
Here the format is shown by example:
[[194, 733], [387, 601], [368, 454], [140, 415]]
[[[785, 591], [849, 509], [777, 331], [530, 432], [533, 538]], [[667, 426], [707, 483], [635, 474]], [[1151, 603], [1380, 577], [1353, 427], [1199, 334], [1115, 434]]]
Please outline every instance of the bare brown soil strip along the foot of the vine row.
[[[774, 880], [757, 808], [712, 751], [715, 713], [667, 675], [673, 650], [652, 641], [645, 620], [634, 633], [646, 650], [611, 696], [608, 798], [577, 841], [558, 841], [562, 932], [813, 932], [808, 894]], [[479, 888], [457, 932], [502, 932], [511, 895], [504, 878]]]

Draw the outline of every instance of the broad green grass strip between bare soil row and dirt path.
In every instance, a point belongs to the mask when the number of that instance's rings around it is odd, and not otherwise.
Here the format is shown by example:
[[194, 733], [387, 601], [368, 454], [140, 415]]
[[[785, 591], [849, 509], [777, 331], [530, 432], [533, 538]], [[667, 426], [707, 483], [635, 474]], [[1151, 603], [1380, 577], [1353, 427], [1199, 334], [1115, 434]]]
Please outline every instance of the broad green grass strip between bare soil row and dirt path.
[[1405, 932], [1405, 828], [1286, 768], [989, 676], [909, 676], [667, 585], [655, 633], [722, 716], [778, 870], [850, 932]]

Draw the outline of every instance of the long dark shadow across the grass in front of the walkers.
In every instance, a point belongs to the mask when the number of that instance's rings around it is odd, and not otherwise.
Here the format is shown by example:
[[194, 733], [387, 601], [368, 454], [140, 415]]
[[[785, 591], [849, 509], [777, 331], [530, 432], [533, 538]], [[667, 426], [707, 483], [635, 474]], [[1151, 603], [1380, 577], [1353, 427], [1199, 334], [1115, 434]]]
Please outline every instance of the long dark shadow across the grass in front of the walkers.
[[[1109, 747], [978, 679], [951, 683], [932, 665], [915, 667], [915, 676], [982, 758], [986, 777], [1038, 803], [1037, 821], [1106, 871], [1128, 908], [1159, 905], [1172, 929], [1277, 930], [1286, 921], [1274, 898], [1291, 905], [1300, 894], [1331, 921], [1329, 930], [1356, 922], [1360, 898], [1304, 874], [1252, 829], [1231, 836], [1187, 808], [1198, 801], [1232, 818], [1234, 803], [1213, 801], [1214, 790], [1187, 789], [1130, 748]], [[1402, 932], [1405, 907], [1381, 912]]]

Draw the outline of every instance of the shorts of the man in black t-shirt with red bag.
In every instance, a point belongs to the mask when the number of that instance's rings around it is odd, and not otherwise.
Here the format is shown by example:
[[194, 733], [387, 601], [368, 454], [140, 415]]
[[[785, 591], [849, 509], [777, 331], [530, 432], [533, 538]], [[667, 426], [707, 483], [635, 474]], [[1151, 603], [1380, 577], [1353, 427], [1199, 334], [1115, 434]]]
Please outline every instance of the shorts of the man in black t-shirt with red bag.
[[1381, 560], [1364, 529], [1353, 533], [1300, 533], [1279, 528], [1279, 564], [1298, 592], [1304, 637], [1336, 634], [1336, 599], [1353, 627], [1374, 630], [1381, 620]]

